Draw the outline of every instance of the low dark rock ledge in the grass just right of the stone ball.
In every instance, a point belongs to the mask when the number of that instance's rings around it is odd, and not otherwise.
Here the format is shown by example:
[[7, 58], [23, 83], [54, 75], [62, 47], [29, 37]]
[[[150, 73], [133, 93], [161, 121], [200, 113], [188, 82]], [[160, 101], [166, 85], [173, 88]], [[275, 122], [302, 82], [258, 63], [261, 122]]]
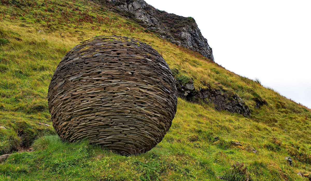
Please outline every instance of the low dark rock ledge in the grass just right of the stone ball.
[[[175, 76], [176, 79], [176, 76]], [[189, 102], [209, 102], [215, 105], [216, 110], [225, 110], [231, 113], [239, 113], [249, 116], [250, 111], [245, 102], [235, 93], [220, 89], [205, 89], [197, 92], [193, 85], [193, 80], [189, 79], [186, 83], [176, 79], [177, 92], [180, 97]]]

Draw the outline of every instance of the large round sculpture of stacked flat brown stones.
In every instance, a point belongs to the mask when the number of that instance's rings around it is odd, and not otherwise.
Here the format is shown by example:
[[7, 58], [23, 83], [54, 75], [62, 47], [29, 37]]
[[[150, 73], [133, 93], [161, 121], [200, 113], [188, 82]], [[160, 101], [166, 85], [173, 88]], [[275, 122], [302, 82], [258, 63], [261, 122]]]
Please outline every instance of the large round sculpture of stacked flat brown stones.
[[72, 48], [49, 85], [53, 127], [64, 140], [87, 139], [123, 154], [149, 151], [169, 130], [175, 80], [151, 46], [123, 36], [96, 36]]

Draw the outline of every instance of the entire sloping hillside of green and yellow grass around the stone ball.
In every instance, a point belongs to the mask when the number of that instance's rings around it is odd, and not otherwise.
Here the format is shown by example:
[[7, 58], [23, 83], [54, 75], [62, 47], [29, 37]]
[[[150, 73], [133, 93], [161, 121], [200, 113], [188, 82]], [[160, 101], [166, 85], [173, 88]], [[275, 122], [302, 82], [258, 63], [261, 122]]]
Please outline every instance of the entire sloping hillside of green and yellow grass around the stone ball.
[[[197, 90], [234, 92], [251, 115], [179, 99], [169, 132], [145, 154], [125, 157], [87, 143], [61, 142], [52, 126], [40, 124], [51, 125], [49, 82], [66, 52], [95, 35], [150, 44], [171, 68], [191, 77]], [[267, 105], [256, 109], [256, 97]], [[311, 172], [310, 122], [305, 107], [107, 7], [85, 0], [0, 0], [0, 126], [7, 128], [0, 129], [0, 154], [31, 144], [36, 150], [1, 163], [0, 180], [308, 180], [297, 173]], [[292, 167], [285, 156], [293, 158]]]

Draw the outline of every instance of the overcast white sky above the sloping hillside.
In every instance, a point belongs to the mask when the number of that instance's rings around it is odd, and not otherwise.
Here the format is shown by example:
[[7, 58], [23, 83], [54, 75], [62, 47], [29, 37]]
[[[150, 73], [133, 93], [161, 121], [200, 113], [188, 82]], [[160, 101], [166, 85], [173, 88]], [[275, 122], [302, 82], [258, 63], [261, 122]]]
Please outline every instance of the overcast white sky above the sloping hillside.
[[311, 1], [145, 0], [193, 17], [215, 62], [311, 108]]

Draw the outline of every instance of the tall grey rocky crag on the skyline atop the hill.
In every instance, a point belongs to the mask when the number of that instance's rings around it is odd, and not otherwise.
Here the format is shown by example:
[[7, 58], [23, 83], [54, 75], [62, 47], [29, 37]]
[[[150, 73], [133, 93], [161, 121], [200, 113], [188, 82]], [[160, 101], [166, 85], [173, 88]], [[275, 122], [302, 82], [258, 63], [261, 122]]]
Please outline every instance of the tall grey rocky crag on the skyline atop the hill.
[[160, 11], [143, 0], [112, 0], [112, 2], [119, 9], [133, 13], [147, 29], [158, 32], [162, 38], [199, 52], [214, 61], [212, 49], [192, 17]]

